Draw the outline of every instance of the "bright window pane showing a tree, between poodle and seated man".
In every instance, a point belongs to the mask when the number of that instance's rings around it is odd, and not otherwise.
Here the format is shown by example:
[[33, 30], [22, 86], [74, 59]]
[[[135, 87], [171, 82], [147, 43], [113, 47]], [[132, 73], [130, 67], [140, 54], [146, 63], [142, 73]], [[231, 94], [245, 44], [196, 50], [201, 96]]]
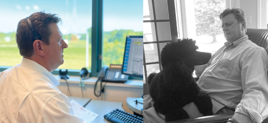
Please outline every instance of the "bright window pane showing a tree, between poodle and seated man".
[[185, 1], [188, 38], [196, 40], [201, 52], [216, 52], [226, 42], [219, 14], [223, 12], [225, 0]]

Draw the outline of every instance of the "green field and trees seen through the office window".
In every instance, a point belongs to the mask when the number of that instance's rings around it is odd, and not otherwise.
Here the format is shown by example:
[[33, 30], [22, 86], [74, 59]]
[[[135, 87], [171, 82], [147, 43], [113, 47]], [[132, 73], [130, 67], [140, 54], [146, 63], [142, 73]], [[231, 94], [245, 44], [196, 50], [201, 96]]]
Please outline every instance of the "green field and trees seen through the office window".
[[[91, 29], [89, 29], [89, 32]], [[22, 61], [22, 56], [16, 44], [15, 32], [0, 32], [0, 66], [15, 66]], [[142, 35], [143, 32], [133, 30], [113, 30], [104, 32], [103, 36], [103, 65], [122, 64], [127, 35]], [[79, 37], [79, 38], [78, 38]], [[86, 67], [86, 34], [63, 35], [68, 48], [64, 49], [64, 64], [59, 69], [81, 70]], [[89, 33], [89, 63], [91, 70], [91, 33]]]

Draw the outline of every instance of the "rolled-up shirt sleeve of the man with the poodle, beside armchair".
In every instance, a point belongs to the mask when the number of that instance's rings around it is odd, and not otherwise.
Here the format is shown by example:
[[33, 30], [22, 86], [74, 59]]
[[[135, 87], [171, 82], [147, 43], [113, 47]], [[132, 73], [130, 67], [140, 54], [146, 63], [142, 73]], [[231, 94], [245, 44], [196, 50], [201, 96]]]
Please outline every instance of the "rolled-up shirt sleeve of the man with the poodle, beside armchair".
[[240, 61], [243, 95], [235, 113], [261, 123], [268, 116], [268, 56], [265, 50], [254, 48], [242, 56]]

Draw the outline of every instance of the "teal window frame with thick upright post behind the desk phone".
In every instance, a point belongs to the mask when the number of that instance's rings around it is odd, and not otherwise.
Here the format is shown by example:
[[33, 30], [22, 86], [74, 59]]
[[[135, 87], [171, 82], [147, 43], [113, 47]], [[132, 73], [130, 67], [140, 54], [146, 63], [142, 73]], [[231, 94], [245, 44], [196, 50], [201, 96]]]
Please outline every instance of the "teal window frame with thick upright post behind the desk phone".
[[[102, 68], [103, 49], [103, 0], [92, 0], [92, 28], [91, 28], [91, 70], [90, 77], [97, 77]], [[123, 63], [123, 62], [122, 62]], [[0, 66], [0, 71], [4, 71], [12, 66]], [[59, 75], [60, 69], [51, 72]], [[68, 69], [68, 75], [79, 76], [80, 70]], [[129, 76], [129, 79], [142, 80], [139, 77]]]

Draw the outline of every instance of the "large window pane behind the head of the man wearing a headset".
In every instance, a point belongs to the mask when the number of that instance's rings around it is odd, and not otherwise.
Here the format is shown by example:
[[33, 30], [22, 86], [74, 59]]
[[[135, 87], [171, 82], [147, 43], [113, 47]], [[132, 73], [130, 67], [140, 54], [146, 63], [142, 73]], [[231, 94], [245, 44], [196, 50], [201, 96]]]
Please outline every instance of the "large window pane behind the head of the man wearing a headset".
[[15, 38], [17, 24], [32, 13], [44, 10], [45, 13], [56, 13], [62, 19], [58, 26], [68, 48], [64, 49], [64, 64], [59, 69], [81, 70], [82, 67], [91, 69], [89, 58], [91, 58], [92, 0], [2, 0], [0, 6], [1, 17], [8, 18], [8, 21], [0, 19], [0, 66], [14, 66], [21, 63], [22, 57], [19, 55]]

